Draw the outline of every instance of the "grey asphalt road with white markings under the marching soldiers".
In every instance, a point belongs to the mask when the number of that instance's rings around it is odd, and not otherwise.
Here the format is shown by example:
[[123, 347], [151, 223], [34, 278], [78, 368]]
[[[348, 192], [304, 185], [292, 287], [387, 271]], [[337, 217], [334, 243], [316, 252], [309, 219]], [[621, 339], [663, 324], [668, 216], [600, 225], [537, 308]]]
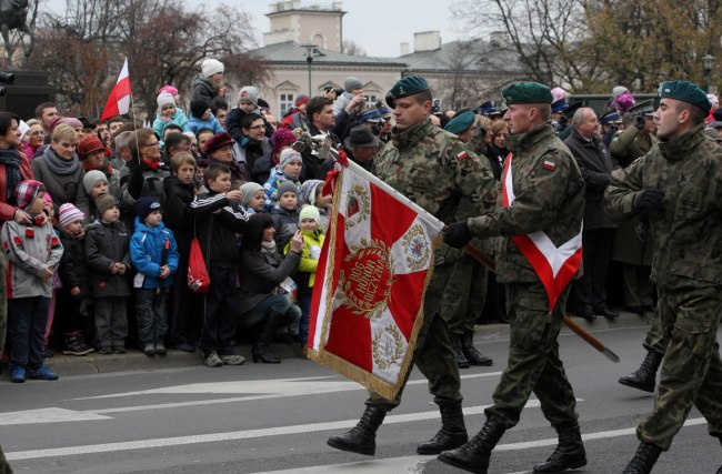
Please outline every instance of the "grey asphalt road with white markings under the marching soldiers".
[[[560, 339], [579, 399], [589, 465], [620, 473], [636, 448], [634, 427], [651, 395], [616, 384], [643, 356], [643, 329], [598, 332], [622, 359], [612, 364], [579, 337]], [[482, 352], [493, 367], [462, 371], [467, 424], [475, 433], [507, 356], [505, 340]], [[387, 417], [377, 457], [338, 452], [330, 434], [355, 424], [365, 392], [305, 360], [280, 365], [182, 367], [66, 376], [58, 382], [0, 382], [0, 444], [16, 473], [452, 473], [415, 444], [439, 427], [418, 373], [402, 405]], [[531, 400], [519, 426], [494, 452], [490, 472], [523, 473], [543, 461], [555, 433]], [[722, 448], [696, 411], [662, 455], [655, 474], [715, 473]]]

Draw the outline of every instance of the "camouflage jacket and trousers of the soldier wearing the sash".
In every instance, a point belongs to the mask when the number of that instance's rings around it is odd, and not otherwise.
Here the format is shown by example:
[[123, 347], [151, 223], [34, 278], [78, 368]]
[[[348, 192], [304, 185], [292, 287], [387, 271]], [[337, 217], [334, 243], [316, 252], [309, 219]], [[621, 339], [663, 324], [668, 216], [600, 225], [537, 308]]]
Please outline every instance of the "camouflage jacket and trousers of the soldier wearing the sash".
[[497, 275], [500, 282], [509, 283], [509, 361], [494, 391], [494, 404], [485, 414], [510, 428], [519, 422], [533, 392], [546, 420], [560, 426], [578, 418], [556, 342], [569, 286], [550, 314], [539, 276], [510, 236], [544, 231], [561, 245], [576, 235], [584, 215], [584, 180], [576, 160], [550, 124], [512, 134], [507, 145], [513, 153], [513, 205], [503, 208], [500, 193], [492, 214], [468, 221], [473, 235], [504, 236], [499, 241]]

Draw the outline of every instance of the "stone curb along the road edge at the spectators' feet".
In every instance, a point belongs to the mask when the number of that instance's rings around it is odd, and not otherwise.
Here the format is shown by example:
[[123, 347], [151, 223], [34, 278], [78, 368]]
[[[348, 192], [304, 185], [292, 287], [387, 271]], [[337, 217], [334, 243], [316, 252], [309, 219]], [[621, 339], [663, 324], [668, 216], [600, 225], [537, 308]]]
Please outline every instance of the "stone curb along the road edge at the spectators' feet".
[[[633, 313], [621, 312], [615, 320], [596, 317], [589, 322], [582, 317], [571, 316], [571, 319], [590, 332], [604, 331], [616, 327], [634, 327], [648, 324], [645, 317], [638, 316]], [[562, 327], [562, 333], [570, 333], [571, 330]], [[484, 324], [478, 325], [474, 334], [475, 341], [493, 341], [509, 339], [508, 324]], [[245, 357], [245, 363], [251, 361], [251, 346], [239, 345], [235, 347], [239, 355]], [[301, 350], [298, 344], [273, 344], [273, 354], [279, 359], [300, 357]], [[50, 366], [58, 374], [62, 375], [83, 375], [83, 374], [102, 374], [112, 372], [127, 371], [149, 371], [169, 367], [183, 367], [191, 365], [202, 365], [200, 352], [193, 353], [182, 351], [168, 351], [168, 355], [156, 355], [149, 357], [139, 350], [130, 349], [127, 354], [103, 355], [93, 352], [83, 356], [58, 354], [48, 360]]]

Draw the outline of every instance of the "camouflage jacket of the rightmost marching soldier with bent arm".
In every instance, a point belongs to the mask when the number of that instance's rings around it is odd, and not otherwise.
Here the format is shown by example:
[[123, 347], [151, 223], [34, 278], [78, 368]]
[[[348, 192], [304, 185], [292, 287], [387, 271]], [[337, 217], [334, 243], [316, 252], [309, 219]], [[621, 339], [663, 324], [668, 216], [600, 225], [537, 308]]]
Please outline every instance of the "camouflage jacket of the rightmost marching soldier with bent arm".
[[634, 214], [639, 191], [664, 190], [662, 210], [650, 215], [652, 280], [662, 289], [722, 284], [722, 151], [704, 125], [612, 172], [604, 208], [613, 219]]

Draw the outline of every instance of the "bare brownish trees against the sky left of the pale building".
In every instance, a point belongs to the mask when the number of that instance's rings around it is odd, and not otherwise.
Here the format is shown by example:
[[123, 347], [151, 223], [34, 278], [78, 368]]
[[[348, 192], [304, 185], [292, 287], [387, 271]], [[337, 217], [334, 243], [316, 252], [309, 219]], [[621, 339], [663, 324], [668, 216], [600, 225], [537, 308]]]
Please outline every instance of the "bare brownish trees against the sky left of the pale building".
[[128, 58], [133, 99], [152, 114], [156, 94], [171, 83], [190, 90], [204, 58], [225, 63], [229, 80], [262, 83], [263, 61], [247, 13], [231, 7], [188, 11], [179, 0], [69, 0], [63, 16], [46, 14], [32, 67], [50, 82], [73, 113], [100, 114], [123, 57]]

